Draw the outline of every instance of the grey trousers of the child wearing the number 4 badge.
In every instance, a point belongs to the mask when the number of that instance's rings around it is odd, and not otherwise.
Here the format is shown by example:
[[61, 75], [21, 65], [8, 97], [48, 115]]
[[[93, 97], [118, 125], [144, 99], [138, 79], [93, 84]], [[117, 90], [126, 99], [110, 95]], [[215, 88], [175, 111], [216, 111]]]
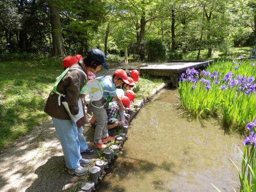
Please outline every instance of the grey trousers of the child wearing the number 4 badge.
[[[93, 105], [100, 107], [104, 104], [102, 101], [94, 101]], [[101, 138], [106, 138], [108, 136], [108, 116], [106, 109], [92, 107], [92, 112], [94, 115], [95, 123], [95, 132], [94, 132], [94, 143], [102, 142]]]

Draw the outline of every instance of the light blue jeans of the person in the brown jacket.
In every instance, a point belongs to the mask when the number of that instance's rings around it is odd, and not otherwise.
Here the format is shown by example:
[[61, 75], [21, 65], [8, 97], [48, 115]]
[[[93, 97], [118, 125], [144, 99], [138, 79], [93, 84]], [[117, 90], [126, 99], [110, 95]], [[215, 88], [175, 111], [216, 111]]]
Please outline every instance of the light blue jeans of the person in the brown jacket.
[[62, 120], [52, 117], [56, 133], [62, 146], [66, 167], [75, 169], [80, 166], [79, 160], [82, 158], [80, 152], [88, 148], [83, 136], [83, 128], [79, 129], [71, 120]]

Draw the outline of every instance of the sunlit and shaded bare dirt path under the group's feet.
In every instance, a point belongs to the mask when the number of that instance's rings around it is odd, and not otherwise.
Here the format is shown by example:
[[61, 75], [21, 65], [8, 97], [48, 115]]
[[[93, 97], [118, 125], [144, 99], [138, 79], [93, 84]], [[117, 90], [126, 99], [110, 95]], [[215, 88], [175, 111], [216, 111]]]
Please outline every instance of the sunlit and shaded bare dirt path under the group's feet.
[[[96, 76], [112, 75], [115, 67]], [[92, 148], [94, 129], [84, 125], [84, 136]], [[96, 151], [96, 150], [95, 150]], [[94, 155], [84, 158], [96, 158]], [[60, 142], [52, 120], [37, 126], [4, 149], [0, 154], [1, 192], [59, 192], [70, 188], [80, 178], [68, 174]]]

